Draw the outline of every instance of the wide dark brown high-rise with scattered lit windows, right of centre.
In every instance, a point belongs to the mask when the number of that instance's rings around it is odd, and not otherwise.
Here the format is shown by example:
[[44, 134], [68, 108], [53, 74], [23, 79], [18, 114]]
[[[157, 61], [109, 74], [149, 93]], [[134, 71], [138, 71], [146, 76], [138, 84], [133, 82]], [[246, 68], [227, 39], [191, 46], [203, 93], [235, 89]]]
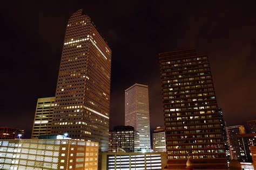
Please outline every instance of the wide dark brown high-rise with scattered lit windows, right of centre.
[[225, 123], [207, 54], [185, 49], [159, 54], [168, 168], [227, 169]]

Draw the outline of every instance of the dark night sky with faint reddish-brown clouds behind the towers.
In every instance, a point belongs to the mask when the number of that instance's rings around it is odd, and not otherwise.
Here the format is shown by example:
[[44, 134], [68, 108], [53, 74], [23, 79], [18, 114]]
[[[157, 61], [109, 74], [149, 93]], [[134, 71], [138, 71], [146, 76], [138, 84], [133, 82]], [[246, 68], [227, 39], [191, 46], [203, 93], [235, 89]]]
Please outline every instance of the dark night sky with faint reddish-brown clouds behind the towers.
[[[151, 130], [164, 124], [159, 52], [208, 53], [228, 126], [256, 118], [256, 1], [10, 1], [1, 3], [0, 126], [31, 135], [39, 97], [55, 95], [68, 18], [84, 9], [112, 49], [110, 128], [124, 90], [149, 85]], [[6, 3], [6, 1], [5, 1]]]

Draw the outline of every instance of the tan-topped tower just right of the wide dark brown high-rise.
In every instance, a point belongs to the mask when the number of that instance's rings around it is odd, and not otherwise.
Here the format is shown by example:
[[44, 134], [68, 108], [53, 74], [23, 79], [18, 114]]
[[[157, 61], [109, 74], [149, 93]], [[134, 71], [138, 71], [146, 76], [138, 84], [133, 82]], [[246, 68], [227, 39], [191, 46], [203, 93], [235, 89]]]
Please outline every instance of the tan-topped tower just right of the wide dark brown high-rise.
[[241, 153], [237, 141], [238, 134], [245, 134], [245, 127], [242, 125], [229, 126], [226, 128], [228, 146], [230, 147], [230, 158], [240, 160]]

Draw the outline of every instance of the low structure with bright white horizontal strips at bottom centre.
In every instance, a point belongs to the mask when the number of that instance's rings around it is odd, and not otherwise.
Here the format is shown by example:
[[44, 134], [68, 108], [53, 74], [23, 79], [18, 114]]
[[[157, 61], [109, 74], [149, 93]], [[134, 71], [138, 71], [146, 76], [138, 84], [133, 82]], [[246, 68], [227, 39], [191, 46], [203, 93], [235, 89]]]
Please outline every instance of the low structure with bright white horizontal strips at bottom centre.
[[100, 154], [102, 170], [117, 169], [164, 169], [166, 152], [103, 152]]

